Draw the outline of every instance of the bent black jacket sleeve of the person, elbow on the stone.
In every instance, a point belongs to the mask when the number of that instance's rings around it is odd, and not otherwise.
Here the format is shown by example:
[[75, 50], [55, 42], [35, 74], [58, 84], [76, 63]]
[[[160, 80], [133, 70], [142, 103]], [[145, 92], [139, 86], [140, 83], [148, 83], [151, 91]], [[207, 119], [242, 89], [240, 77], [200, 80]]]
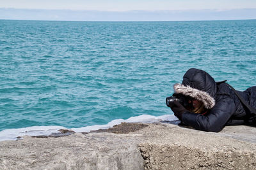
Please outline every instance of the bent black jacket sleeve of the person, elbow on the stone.
[[236, 105], [227, 94], [217, 98], [218, 101], [207, 115], [186, 112], [182, 115], [182, 122], [201, 131], [220, 132], [236, 111]]

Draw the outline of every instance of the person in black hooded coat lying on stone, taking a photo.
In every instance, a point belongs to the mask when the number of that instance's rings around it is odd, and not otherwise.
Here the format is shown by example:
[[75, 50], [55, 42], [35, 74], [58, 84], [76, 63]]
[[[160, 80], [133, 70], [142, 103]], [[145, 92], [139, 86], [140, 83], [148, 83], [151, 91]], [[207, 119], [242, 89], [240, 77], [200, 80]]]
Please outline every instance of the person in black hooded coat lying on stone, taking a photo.
[[225, 125], [256, 125], [256, 87], [240, 92], [192, 68], [184, 74], [182, 84], [175, 84], [173, 89], [173, 96], [187, 99], [186, 106], [176, 99], [170, 105], [183, 124], [212, 132], [220, 132]]

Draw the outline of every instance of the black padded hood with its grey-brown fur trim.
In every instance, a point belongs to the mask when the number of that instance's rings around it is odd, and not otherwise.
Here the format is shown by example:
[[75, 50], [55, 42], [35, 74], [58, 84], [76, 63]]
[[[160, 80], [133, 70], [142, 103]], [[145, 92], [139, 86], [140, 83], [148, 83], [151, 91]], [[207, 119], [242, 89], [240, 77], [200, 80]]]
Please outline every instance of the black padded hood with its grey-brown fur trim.
[[176, 83], [173, 89], [175, 94], [183, 94], [202, 101], [207, 109], [215, 105], [216, 82], [203, 70], [189, 69], [183, 76], [182, 84]]

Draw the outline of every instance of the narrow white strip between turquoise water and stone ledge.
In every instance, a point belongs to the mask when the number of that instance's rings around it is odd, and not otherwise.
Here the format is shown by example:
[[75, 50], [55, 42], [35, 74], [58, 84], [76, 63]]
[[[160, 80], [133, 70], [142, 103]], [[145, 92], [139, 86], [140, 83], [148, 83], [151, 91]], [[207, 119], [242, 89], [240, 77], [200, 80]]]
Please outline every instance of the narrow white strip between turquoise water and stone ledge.
[[[86, 127], [79, 127], [79, 128], [71, 128], [70, 130], [75, 132], [90, 132], [95, 131], [98, 129], [108, 129], [109, 127], [113, 127], [113, 125], [121, 124], [122, 122], [129, 122], [129, 123], [153, 123], [153, 122], [160, 122], [160, 121], [172, 121], [177, 120], [174, 115], [162, 115], [159, 117], [155, 117], [152, 115], [140, 115], [138, 117], [131, 117], [126, 120], [124, 119], [115, 119], [109, 122], [106, 125], [90, 125]], [[41, 135], [50, 135], [53, 133], [60, 133], [58, 130], [60, 129], [67, 129], [62, 126], [32, 126], [32, 127], [24, 127], [19, 129], [5, 129], [0, 131], [0, 141], [6, 140], [16, 140], [18, 136], [41, 136]]]

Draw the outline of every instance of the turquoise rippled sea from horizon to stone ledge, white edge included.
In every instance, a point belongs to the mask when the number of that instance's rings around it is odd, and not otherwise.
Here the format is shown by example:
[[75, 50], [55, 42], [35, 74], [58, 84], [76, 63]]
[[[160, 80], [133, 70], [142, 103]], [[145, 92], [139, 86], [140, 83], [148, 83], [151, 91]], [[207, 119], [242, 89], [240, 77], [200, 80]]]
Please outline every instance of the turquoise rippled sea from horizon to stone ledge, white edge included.
[[256, 20], [0, 20], [0, 141], [177, 118], [186, 71], [256, 85]]

